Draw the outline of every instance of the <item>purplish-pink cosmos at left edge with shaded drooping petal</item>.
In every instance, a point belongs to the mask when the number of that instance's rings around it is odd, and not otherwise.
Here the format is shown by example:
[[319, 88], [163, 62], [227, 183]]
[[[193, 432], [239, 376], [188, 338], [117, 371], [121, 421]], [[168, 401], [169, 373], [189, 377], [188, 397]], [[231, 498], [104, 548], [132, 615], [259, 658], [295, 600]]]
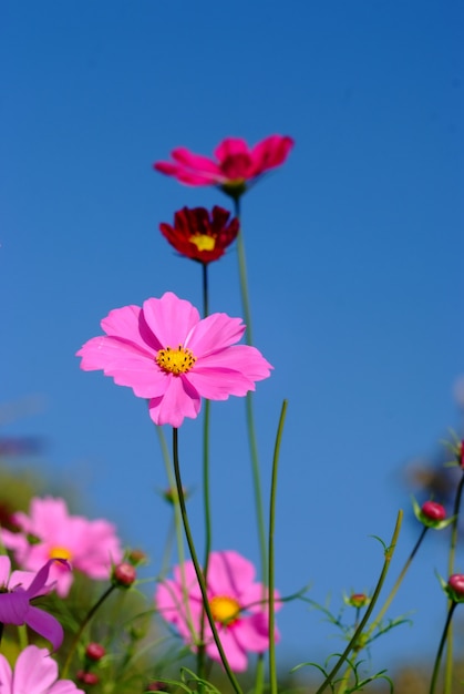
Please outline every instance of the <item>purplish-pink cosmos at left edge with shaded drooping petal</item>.
[[[37, 574], [13, 571], [10, 575], [10, 558], [0, 557], [0, 622], [16, 626], [27, 624], [56, 650], [63, 641], [63, 627], [54, 616], [30, 604], [33, 598], [44, 595], [52, 589], [45, 585], [52, 563], [53, 560], [48, 561]], [[64, 564], [63, 570], [69, 571], [66, 562], [61, 563]]]

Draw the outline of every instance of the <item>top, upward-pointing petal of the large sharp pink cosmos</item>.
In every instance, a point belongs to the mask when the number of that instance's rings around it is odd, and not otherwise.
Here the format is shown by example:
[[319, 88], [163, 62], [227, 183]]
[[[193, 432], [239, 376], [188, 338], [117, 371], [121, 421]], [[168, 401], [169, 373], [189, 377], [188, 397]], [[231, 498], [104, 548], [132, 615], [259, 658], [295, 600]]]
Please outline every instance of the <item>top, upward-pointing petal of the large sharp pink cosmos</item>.
[[172, 292], [166, 292], [161, 299], [152, 298], [144, 302], [143, 315], [163, 347], [176, 348], [183, 345], [199, 322], [197, 309]]

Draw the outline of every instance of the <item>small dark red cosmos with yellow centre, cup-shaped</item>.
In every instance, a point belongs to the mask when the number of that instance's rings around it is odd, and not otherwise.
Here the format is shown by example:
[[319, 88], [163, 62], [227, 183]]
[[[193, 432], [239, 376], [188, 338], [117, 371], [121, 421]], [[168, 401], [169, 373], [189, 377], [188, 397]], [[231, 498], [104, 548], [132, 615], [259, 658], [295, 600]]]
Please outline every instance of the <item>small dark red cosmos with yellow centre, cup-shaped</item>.
[[210, 214], [205, 207], [184, 207], [175, 213], [174, 226], [162, 223], [159, 231], [178, 253], [206, 264], [220, 258], [235, 241], [239, 222], [229, 217], [230, 213], [217, 205]]

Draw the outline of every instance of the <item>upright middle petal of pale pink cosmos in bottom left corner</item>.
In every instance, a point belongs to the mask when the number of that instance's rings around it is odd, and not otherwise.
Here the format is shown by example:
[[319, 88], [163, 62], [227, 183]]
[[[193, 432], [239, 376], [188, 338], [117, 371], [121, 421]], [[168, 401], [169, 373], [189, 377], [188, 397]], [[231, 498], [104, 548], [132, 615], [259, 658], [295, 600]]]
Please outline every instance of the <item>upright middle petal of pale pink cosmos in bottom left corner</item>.
[[25, 647], [14, 665], [14, 692], [43, 694], [55, 682], [58, 665], [47, 649]]

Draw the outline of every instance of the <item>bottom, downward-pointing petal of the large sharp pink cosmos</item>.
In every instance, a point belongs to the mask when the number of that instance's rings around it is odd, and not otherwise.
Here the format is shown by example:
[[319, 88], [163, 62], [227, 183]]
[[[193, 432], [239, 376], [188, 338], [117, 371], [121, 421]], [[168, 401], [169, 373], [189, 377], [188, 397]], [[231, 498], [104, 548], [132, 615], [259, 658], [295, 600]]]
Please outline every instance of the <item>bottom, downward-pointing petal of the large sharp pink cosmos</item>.
[[167, 378], [169, 382], [164, 396], [149, 400], [149, 416], [156, 425], [178, 428], [185, 417], [195, 419], [198, 416], [202, 400], [184, 376], [176, 377], [169, 374]]

